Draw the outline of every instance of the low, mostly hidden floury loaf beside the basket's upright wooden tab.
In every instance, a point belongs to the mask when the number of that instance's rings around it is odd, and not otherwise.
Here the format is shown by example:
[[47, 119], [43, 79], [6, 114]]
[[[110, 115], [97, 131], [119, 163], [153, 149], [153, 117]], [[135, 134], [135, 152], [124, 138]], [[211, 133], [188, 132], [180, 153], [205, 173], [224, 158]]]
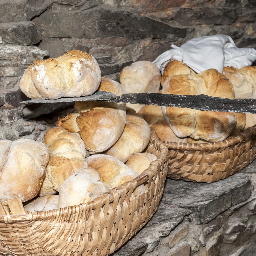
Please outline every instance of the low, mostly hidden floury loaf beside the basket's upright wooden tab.
[[59, 209], [58, 195], [39, 196], [24, 206], [24, 210], [28, 212], [49, 211]]

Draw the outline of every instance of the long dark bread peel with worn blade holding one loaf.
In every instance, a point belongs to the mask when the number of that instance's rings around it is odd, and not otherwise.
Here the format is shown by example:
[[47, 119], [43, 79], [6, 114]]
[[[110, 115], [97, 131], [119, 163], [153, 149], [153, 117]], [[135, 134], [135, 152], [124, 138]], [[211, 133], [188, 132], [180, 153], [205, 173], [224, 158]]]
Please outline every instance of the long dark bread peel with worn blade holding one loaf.
[[256, 113], [256, 99], [227, 99], [200, 95], [176, 95], [163, 93], [126, 93], [116, 96], [114, 93], [97, 91], [83, 97], [63, 97], [56, 100], [31, 99], [20, 103], [58, 103], [73, 101], [108, 101], [166, 107], [192, 108], [203, 111], [224, 111]]

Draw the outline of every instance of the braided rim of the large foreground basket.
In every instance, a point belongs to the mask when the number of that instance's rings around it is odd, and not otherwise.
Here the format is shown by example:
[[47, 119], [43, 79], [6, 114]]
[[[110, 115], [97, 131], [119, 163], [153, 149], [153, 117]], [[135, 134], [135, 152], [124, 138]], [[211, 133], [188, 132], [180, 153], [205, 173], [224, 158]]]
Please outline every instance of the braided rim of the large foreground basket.
[[[70, 215], [75, 214], [75, 212], [77, 211], [77, 208], [83, 208], [84, 210], [86, 210], [88, 207], [94, 207], [95, 201], [101, 201], [102, 206], [104, 206], [104, 204], [106, 203], [106, 199], [107, 197], [109, 198], [108, 201], [113, 201], [114, 200], [114, 196], [116, 194], [116, 192], [118, 192], [118, 196], [120, 198], [120, 194], [121, 191], [123, 191], [124, 189], [128, 188], [131, 186], [133, 186], [133, 190], [130, 191], [130, 193], [132, 193], [138, 186], [142, 185], [144, 182], [148, 181], [150, 179], [150, 175], [149, 173], [152, 173], [152, 169], [151, 167], [153, 165], [158, 166], [159, 164], [159, 158], [164, 158], [163, 155], [166, 156], [166, 158], [168, 158], [168, 148], [167, 146], [164, 144], [163, 141], [161, 141], [157, 134], [154, 131], [151, 131], [151, 139], [153, 143], [156, 142], [160, 142], [159, 144], [159, 149], [160, 149], [160, 154], [158, 156], [158, 158], [154, 161], [152, 161], [149, 165], [149, 167], [147, 169], [145, 169], [141, 174], [139, 174], [136, 178], [127, 181], [117, 187], [112, 188], [110, 191], [104, 193], [102, 196], [99, 196], [97, 198], [95, 198], [92, 201], [89, 201], [87, 203], [81, 203], [79, 205], [73, 205], [73, 206], [68, 206], [68, 207], [64, 207], [64, 208], [59, 208], [59, 209], [53, 209], [53, 210], [49, 210], [49, 211], [35, 211], [35, 212], [29, 212], [29, 211], [25, 211], [25, 214], [10, 214], [10, 213], [6, 213], [5, 215], [0, 215], [0, 223], [6, 223], [6, 224], [10, 224], [10, 223], [14, 223], [14, 222], [30, 222], [30, 221], [37, 221], [37, 220], [44, 220], [46, 218], [48, 218], [49, 215], [61, 215], [62, 212], [69, 212]], [[128, 189], [129, 190], [129, 189]], [[114, 192], [114, 193], [112, 193]], [[143, 192], [142, 194], [144, 194], [146, 192]]]

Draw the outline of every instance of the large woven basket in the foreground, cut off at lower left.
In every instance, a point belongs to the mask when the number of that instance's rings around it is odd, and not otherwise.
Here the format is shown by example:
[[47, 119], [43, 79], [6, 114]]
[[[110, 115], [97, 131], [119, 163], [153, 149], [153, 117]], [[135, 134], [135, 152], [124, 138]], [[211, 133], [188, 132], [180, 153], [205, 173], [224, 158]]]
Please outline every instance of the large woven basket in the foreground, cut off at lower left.
[[[147, 151], [157, 159], [135, 179], [80, 205], [27, 212], [19, 198], [0, 201], [0, 255], [105, 256], [136, 234], [158, 208], [167, 174], [168, 150], [155, 133]], [[144, 186], [138, 196], [133, 191]]]

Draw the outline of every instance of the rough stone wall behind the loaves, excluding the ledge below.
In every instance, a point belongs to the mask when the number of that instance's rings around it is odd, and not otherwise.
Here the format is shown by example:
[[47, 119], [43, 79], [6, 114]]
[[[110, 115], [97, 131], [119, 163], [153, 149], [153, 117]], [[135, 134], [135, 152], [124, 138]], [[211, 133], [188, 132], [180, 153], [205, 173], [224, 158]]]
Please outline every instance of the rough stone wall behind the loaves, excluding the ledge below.
[[72, 104], [25, 106], [24, 70], [37, 59], [73, 49], [92, 54], [102, 75], [118, 80], [134, 61], [153, 61], [187, 40], [230, 35], [256, 48], [256, 2], [243, 0], [2, 0], [0, 1], [0, 139], [41, 141]]

